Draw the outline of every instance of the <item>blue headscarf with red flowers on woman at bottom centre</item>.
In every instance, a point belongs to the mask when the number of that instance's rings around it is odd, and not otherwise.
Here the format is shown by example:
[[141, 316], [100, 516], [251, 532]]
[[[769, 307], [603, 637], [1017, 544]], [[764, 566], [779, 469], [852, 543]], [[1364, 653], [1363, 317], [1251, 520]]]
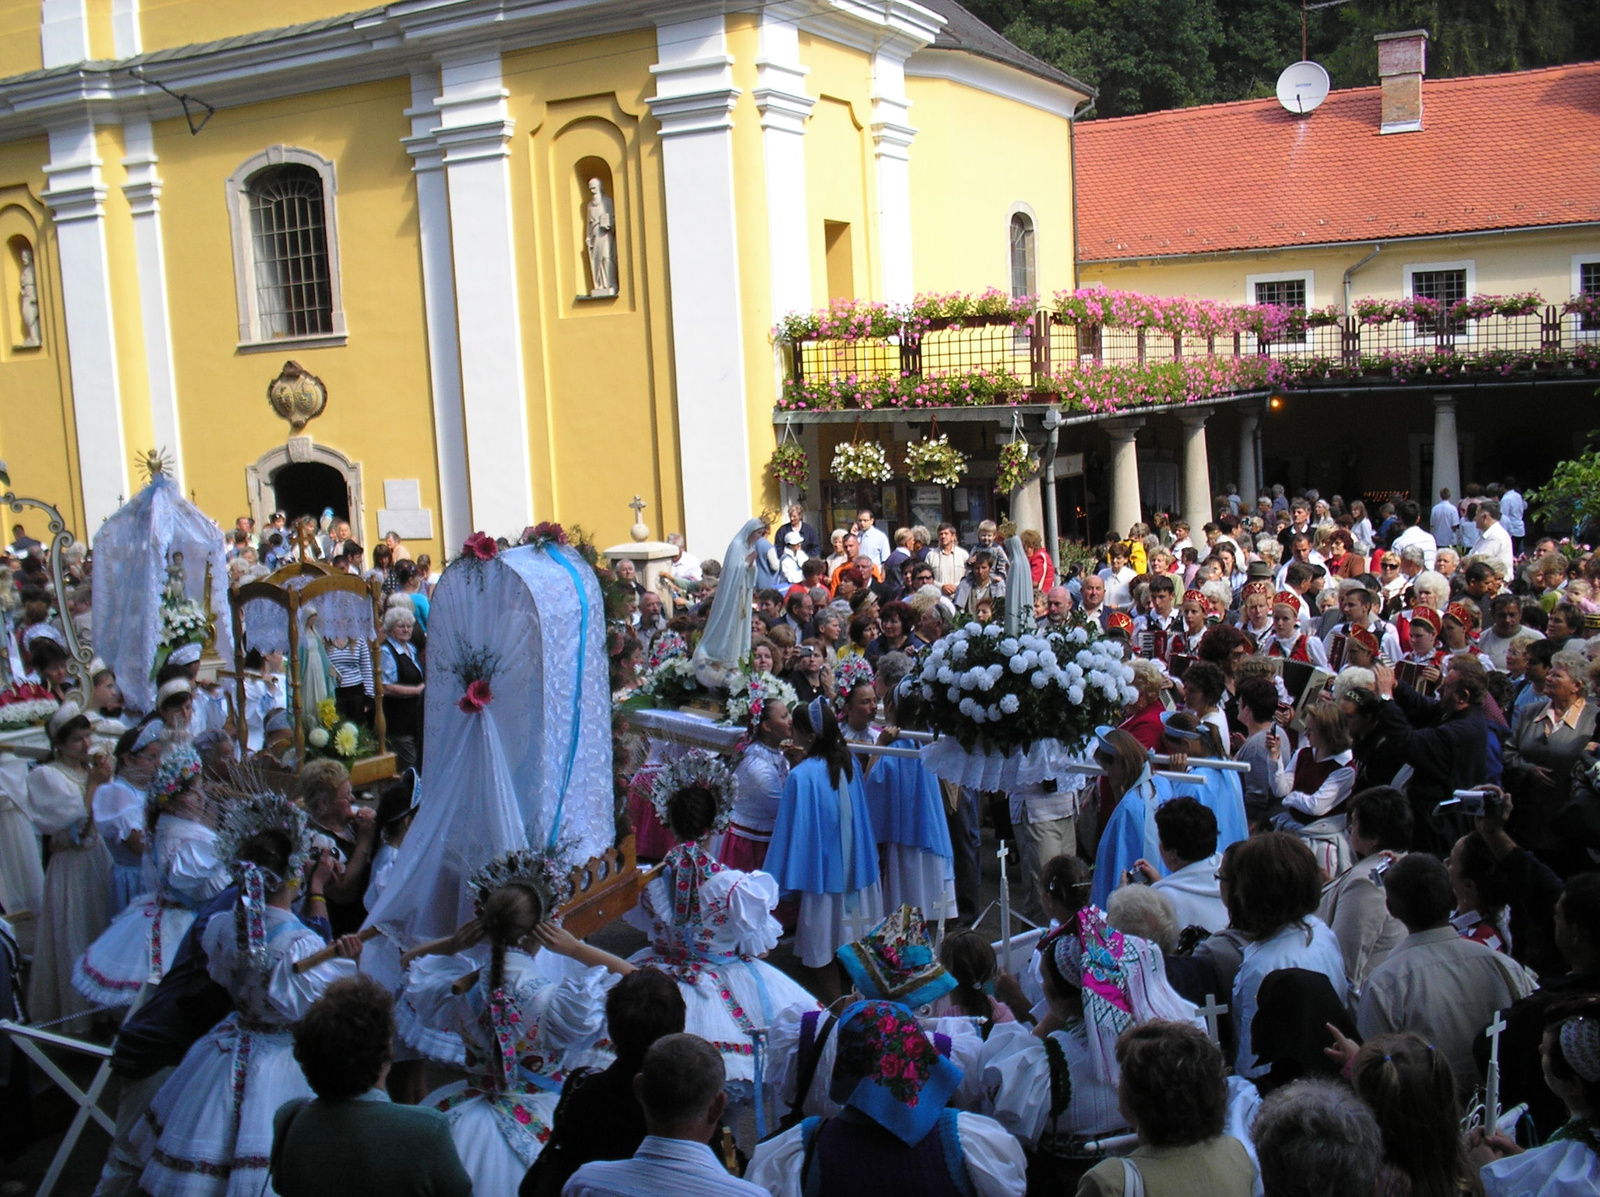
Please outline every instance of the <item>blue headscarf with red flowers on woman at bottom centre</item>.
[[907, 1146], [933, 1130], [962, 1083], [910, 1010], [856, 1002], [838, 1019], [838, 1059], [829, 1096], [872, 1119]]

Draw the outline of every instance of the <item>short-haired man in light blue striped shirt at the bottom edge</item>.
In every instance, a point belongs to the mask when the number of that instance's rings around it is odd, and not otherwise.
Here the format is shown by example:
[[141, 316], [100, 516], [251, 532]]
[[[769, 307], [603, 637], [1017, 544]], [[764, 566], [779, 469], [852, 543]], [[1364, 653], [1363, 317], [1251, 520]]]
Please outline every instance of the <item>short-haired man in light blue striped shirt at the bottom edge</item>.
[[730, 1176], [706, 1146], [728, 1107], [722, 1055], [699, 1035], [666, 1035], [645, 1053], [634, 1093], [650, 1131], [629, 1160], [592, 1160], [571, 1175], [562, 1197], [768, 1197]]

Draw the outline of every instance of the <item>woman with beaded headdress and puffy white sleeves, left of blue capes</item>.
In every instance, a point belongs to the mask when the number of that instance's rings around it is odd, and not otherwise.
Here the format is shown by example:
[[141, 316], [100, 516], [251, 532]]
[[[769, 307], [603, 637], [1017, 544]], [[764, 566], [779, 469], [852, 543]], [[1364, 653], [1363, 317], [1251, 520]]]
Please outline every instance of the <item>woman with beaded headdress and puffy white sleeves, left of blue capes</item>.
[[816, 1010], [816, 1000], [758, 957], [778, 946], [778, 882], [712, 859], [706, 842], [728, 826], [733, 771], [699, 749], [667, 765], [651, 791], [661, 821], [680, 843], [645, 887], [627, 920], [650, 935], [635, 968], [654, 967], [683, 991], [683, 1029], [723, 1056], [728, 1091], [750, 1096], [757, 1080], [752, 1039], [779, 1010]]

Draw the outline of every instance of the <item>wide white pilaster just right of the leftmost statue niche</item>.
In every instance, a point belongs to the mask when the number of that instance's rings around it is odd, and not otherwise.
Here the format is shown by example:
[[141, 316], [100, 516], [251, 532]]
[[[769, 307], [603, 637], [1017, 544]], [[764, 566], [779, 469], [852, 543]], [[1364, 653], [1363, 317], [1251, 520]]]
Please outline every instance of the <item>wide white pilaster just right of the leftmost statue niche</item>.
[[61, 299], [67, 318], [72, 410], [88, 539], [128, 496], [128, 451], [117, 379], [117, 334], [106, 251], [106, 182], [88, 120], [50, 131], [45, 203], [61, 254]]

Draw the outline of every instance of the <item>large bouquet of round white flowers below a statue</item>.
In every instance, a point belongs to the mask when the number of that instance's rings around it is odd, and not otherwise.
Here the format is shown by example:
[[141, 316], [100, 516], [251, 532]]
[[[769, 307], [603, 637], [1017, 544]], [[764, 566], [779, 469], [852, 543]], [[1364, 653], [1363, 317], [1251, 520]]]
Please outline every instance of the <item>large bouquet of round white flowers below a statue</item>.
[[1045, 741], [1082, 752], [1138, 698], [1122, 645], [1070, 627], [1005, 635], [970, 623], [938, 640], [917, 674], [933, 727], [966, 752], [1027, 752]]

